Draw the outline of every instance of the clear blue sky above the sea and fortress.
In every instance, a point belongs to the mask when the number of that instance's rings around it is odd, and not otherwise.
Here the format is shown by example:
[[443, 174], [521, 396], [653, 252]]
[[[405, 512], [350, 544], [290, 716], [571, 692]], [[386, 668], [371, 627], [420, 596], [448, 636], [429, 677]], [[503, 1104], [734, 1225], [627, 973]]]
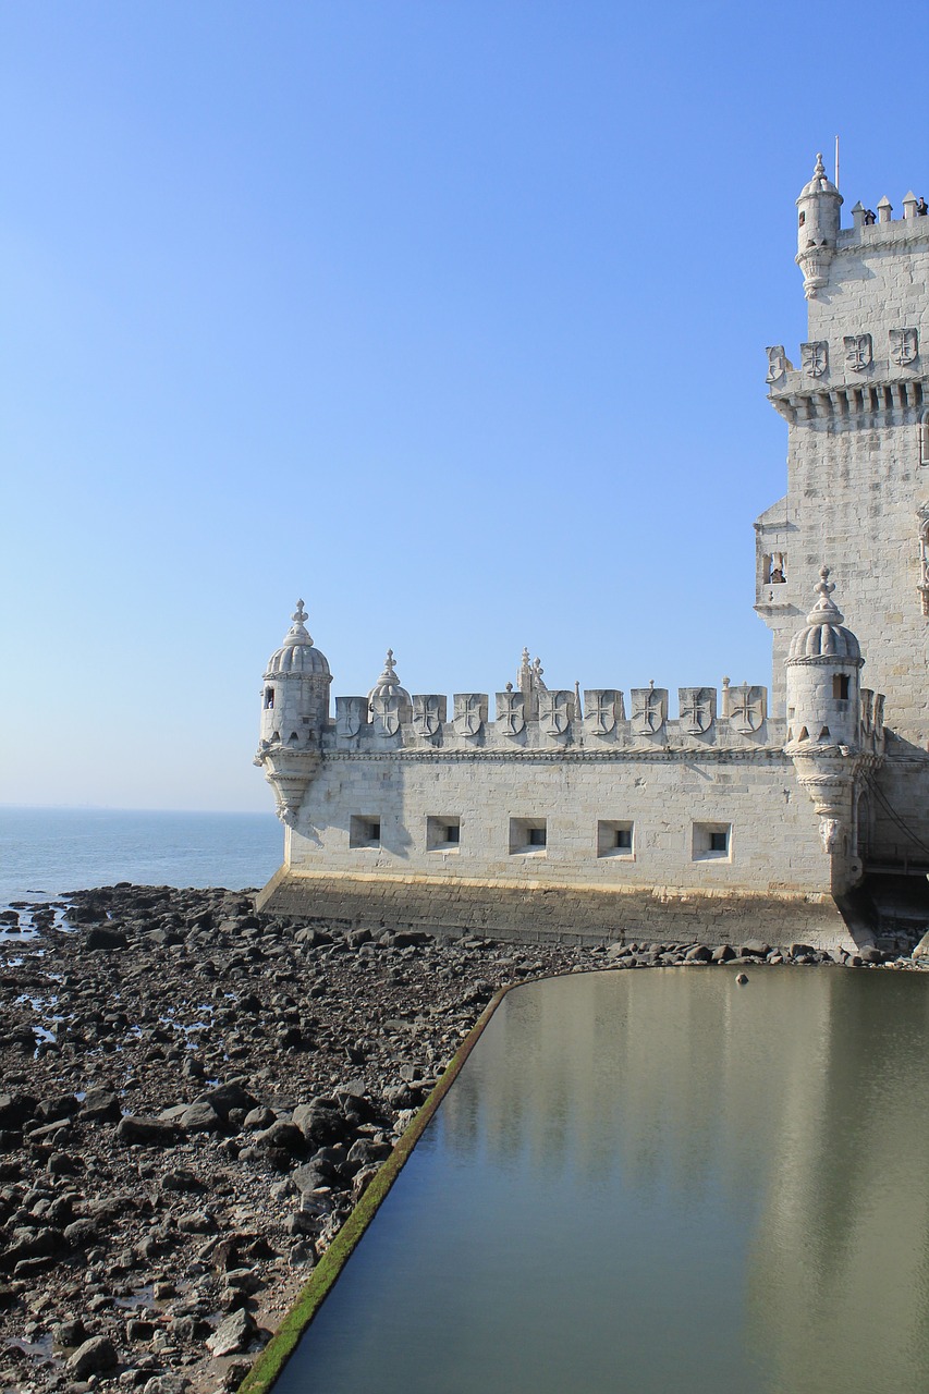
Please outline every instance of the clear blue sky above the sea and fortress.
[[767, 682], [795, 206], [929, 194], [929, 7], [0, 6], [0, 802], [269, 809], [335, 693]]

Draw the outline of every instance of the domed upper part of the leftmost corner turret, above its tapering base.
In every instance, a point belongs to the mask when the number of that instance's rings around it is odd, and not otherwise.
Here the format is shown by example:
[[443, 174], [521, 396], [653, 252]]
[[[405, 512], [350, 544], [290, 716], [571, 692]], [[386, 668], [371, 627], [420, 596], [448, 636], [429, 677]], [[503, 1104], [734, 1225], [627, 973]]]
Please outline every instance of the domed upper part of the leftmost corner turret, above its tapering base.
[[329, 717], [332, 673], [325, 654], [312, 647], [303, 601], [297, 601], [292, 619], [283, 644], [268, 659], [261, 739], [301, 749], [319, 743]]

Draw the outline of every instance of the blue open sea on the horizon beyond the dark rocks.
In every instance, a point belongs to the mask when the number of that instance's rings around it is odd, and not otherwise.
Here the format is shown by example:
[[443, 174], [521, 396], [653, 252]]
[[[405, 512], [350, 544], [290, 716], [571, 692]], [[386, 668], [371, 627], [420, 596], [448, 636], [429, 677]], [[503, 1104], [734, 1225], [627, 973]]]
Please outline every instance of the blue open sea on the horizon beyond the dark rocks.
[[240, 891], [282, 857], [272, 813], [0, 807], [0, 907], [114, 881]]

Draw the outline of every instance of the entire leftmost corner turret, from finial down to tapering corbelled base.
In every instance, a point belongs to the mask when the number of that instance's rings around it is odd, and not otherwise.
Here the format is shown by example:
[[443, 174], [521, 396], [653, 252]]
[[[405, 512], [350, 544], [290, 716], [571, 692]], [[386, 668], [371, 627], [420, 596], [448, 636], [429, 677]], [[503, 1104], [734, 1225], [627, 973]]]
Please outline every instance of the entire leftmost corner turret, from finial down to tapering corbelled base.
[[322, 729], [329, 719], [332, 673], [325, 654], [312, 647], [307, 612], [297, 601], [293, 625], [268, 659], [261, 693], [261, 742], [255, 764], [275, 790], [278, 817], [296, 822], [304, 795], [319, 768]]

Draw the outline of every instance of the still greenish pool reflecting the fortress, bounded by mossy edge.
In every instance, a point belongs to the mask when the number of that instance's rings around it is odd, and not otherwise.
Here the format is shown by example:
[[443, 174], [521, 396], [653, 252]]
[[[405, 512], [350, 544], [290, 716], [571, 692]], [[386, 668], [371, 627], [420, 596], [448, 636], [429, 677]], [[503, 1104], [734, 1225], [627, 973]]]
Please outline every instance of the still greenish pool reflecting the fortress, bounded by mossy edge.
[[929, 981], [511, 993], [275, 1394], [925, 1394]]

